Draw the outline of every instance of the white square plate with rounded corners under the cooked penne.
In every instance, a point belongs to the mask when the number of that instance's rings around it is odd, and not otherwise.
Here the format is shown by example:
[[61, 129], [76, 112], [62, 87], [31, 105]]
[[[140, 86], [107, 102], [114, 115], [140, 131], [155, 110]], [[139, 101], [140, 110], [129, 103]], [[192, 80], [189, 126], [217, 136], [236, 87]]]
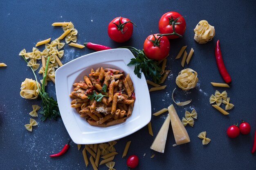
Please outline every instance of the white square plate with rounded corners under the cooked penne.
[[[128, 49], [110, 49], [83, 55], [56, 70], [56, 96], [63, 123], [76, 144], [99, 144], [126, 137], [143, 128], [151, 119], [151, 104], [144, 74], [139, 79], [133, 72], [134, 66], [127, 66], [134, 58]], [[135, 89], [135, 104], [132, 115], [126, 122], [109, 127], [91, 126], [71, 108], [69, 95], [73, 84], [89, 75], [91, 68], [109, 67], [130, 74]]]

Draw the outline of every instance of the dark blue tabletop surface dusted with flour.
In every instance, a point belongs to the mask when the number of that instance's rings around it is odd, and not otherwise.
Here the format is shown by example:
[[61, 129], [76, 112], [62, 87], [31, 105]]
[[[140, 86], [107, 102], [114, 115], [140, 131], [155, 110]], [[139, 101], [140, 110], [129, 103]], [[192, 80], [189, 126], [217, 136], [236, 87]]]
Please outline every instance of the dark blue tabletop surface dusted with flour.
[[[168, 11], [177, 11], [186, 16], [187, 29], [184, 38], [171, 40], [170, 56], [167, 69], [171, 75], [165, 84], [164, 91], [152, 92], [152, 112], [172, 104], [171, 92], [176, 87], [175, 77], [182, 70], [181, 60], [174, 60], [181, 46], [187, 45], [195, 50], [189, 68], [198, 72], [198, 86], [184, 93], [177, 89], [177, 100], [192, 99], [190, 105], [175, 106], [180, 118], [185, 110], [195, 108], [198, 119], [195, 126], [186, 127], [191, 142], [177, 147], [171, 127], [168, 132], [165, 153], [150, 150], [154, 137], [148, 135], [147, 127], [118, 141], [115, 157], [117, 170], [126, 168], [126, 159], [121, 159], [124, 145], [131, 140], [128, 155], [139, 156], [137, 169], [141, 170], [254, 170], [256, 156], [251, 154], [254, 131], [256, 129], [255, 111], [255, 40], [256, 40], [256, 3], [254, 1], [0, 1], [0, 62], [7, 64], [0, 68], [0, 160], [3, 170], [17, 169], [85, 169], [81, 150], [78, 151], [74, 143], [70, 150], [56, 159], [48, 155], [58, 152], [66, 143], [69, 135], [63, 122], [47, 120], [39, 122], [33, 132], [25, 130], [24, 125], [29, 122], [29, 112], [32, 104], [40, 104], [36, 100], [25, 100], [20, 97], [20, 84], [25, 78], [34, 76], [26, 66], [25, 61], [18, 56], [22, 49], [31, 51], [36, 42], [51, 37], [58, 38], [63, 33], [60, 27], [53, 27], [53, 22], [73, 22], [78, 30], [78, 43], [94, 42], [116, 48], [119, 46], [134, 46], [143, 48], [144, 40], [150, 31], [158, 32], [159, 18]], [[110, 40], [107, 34], [109, 22], [118, 16], [130, 18], [137, 28], [132, 38], [118, 44]], [[198, 44], [193, 40], [193, 29], [200, 20], [207, 20], [215, 26], [216, 36], [207, 44]], [[210, 82], [223, 82], [218, 73], [214, 57], [217, 40], [227, 70], [232, 78], [229, 89], [215, 88]], [[42, 50], [43, 47], [40, 47]], [[81, 55], [92, 53], [89, 49], [76, 49], [65, 45], [62, 59], [67, 63]], [[187, 66], [186, 66], [187, 68]], [[41, 75], [39, 75], [40, 77]], [[209, 97], [215, 90], [227, 90], [231, 103], [235, 107], [224, 116], [209, 104]], [[55, 86], [49, 83], [47, 92], [55, 96]], [[185, 96], [185, 97], [184, 97]], [[164, 116], [152, 117], [153, 132], [156, 136], [164, 122]], [[226, 135], [228, 126], [239, 122], [240, 118], [247, 120], [252, 131], [249, 135], [240, 135], [236, 139], [229, 139]], [[211, 143], [202, 146], [197, 135], [207, 131]], [[145, 157], [143, 156], [146, 153]], [[153, 159], [150, 156], [155, 154]], [[92, 170], [89, 166], [86, 168]], [[101, 166], [99, 169], [107, 169]]]

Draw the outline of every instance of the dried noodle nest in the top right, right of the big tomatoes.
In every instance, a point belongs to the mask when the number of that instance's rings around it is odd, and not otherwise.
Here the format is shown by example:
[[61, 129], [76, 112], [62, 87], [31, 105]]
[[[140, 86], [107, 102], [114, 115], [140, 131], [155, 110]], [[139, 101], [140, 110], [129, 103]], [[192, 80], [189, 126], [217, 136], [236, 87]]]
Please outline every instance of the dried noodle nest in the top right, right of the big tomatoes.
[[199, 44], [205, 44], [208, 41], [211, 41], [215, 35], [214, 26], [208, 24], [206, 20], [200, 21], [194, 29], [195, 36], [194, 39]]

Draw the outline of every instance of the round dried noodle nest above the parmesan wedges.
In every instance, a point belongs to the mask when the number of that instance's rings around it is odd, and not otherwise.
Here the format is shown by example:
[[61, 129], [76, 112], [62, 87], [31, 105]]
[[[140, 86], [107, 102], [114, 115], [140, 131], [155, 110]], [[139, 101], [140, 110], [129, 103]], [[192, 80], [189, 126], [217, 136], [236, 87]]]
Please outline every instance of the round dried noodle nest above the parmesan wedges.
[[198, 82], [198, 73], [193, 71], [191, 68], [186, 68], [180, 71], [179, 75], [176, 77], [176, 84], [182, 90], [188, 91], [194, 88]]

